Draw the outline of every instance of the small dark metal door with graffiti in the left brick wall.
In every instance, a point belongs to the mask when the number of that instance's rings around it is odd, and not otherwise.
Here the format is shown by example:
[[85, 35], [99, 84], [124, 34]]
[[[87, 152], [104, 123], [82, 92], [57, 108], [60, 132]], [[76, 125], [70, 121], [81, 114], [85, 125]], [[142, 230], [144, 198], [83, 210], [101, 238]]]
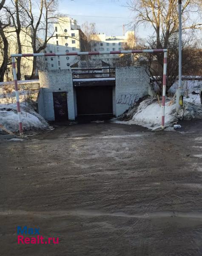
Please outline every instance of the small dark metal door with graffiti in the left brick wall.
[[68, 120], [67, 93], [53, 93], [55, 121]]

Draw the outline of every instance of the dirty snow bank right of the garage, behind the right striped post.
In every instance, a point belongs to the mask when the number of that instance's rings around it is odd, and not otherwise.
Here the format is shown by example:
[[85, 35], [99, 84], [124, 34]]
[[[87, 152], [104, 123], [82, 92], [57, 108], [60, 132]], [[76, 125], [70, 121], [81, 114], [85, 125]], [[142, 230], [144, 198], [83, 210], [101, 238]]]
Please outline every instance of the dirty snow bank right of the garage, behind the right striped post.
[[[196, 97], [196, 95], [194, 95]], [[197, 95], [198, 96], [198, 95]], [[199, 96], [198, 96], [199, 97]], [[166, 98], [165, 102], [165, 126], [171, 126], [174, 122], [177, 122], [179, 119], [202, 119], [202, 106], [198, 105], [198, 99], [192, 101], [192, 98], [188, 98], [184, 102], [184, 109], [178, 114], [176, 113], [176, 104], [170, 105], [169, 102], [171, 99]], [[197, 104], [193, 104], [196, 102]], [[156, 98], [148, 98], [140, 102], [139, 106], [137, 105], [131, 107], [128, 111], [128, 116], [130, 112], [135, 109], [133, 116], [130, 120], [127, 117], [118, 118], [119, 120], [128, 120], [128, 121], [115, 121], [117, 123], [128, 124], [128, 125], [142, 125], [149, 129], [156, 129], [161, 126], [161, 116], [162, 116], [162, 107], [159, 106], [159, 103]], [[125, 113], [125, 116], [127, 114]]]

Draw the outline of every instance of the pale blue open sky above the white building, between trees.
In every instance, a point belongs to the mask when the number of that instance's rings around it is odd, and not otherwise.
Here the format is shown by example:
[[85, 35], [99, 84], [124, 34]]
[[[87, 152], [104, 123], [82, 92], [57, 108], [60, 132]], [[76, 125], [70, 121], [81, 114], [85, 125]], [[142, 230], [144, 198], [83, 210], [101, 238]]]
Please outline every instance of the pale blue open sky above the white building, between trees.
[[[126, 7], [127, 0], [60, 0], [59, 12], [77, 20], [78, 25], [86, 21], [96, 23], [96, 30], [106, 35], [122, 35], [123, 24], [133, 20], [133, 13]], [[125, 31], [132, 30], [130, 25]], [[141, 38], [151, 34], [151, 30], [140, 26], [136, 31]]]

